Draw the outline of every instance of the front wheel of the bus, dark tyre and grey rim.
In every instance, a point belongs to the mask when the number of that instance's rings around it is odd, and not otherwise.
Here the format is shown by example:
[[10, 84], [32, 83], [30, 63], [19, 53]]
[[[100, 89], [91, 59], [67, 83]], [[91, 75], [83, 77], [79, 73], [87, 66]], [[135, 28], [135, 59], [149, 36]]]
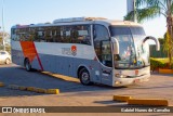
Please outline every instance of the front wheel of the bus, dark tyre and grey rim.
[[79, 72], [79, 78], [80, 78], [80, 82], [84, 86], [90, 86], [92, 82], [90, 81], [90, 74], [88, 72], [88, 69], [82, 68]]

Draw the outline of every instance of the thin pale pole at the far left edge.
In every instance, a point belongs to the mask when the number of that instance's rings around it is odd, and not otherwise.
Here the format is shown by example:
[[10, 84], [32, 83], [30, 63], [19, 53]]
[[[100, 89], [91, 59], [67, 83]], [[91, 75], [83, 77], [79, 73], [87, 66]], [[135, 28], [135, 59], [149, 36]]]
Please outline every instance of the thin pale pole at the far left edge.
[[5, 42], [4, 42], [4, 0], [2, 0], [2, 44], [3, 50], [5, 51]]

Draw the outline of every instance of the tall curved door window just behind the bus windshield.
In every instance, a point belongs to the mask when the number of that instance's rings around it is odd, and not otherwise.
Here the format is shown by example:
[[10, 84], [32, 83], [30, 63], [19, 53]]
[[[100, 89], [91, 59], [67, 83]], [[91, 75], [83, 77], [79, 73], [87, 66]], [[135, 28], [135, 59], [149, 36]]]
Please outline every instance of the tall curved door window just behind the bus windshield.
[[111, 44], [105, 26], [94, 25], [94, 49], [101, 63], [112, 67]]

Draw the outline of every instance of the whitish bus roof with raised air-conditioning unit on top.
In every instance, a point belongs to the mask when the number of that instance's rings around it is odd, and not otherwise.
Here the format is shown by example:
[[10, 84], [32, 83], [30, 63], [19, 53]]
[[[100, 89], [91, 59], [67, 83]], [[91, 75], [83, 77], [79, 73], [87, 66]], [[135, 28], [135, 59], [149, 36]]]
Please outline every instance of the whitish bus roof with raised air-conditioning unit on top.
[[53, 21], [53, 23], [39, 23], [39, 24], [30, 24], [30, 25], [15, 25], [12, 28], [25, 28], [25, 27], [37, 27], [37, 26], [55, 26], [55, 25], [70, 25], [70, 24], [95, 24], [95, 23], [106, 23], [108, 25], [115, 26], [142, 26], [138, 23], [130, 22], [130, 21], [114, 21], [107, 20], [105, 17], [70, 17], [70, 18], [59, 18]]

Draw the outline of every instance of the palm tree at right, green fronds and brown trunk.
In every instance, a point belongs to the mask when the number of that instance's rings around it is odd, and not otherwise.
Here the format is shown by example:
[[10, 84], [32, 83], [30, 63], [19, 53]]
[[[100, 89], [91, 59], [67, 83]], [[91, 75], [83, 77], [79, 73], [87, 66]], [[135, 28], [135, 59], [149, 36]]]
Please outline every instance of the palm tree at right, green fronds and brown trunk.
[[[135, 13], [139, 23], [163, 15], [167, 18], [168, 36], [170, 37], [164, 47], [173, 47], [173, 0], [136, 0], [136, 10], [128, 13], [124, 20], [133, 20]], [[168, 56], [171, 67], [173, 49], [168, 50]]]

